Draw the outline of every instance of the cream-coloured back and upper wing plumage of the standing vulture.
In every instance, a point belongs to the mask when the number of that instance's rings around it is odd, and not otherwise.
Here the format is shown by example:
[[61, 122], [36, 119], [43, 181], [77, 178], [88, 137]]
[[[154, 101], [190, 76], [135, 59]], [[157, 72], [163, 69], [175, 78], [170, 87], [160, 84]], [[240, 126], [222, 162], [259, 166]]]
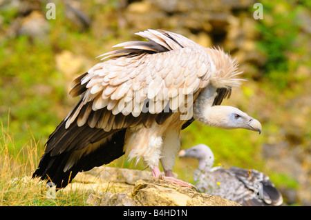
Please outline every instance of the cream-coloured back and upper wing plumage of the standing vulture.
[[[76, 118], [79, 126], [88, 121], [89, 126], [105, 131], [135, 126], [135, 120], [126, 123], [127, 115], [180, 111], [187, 106], [188, 95], [196, 97], [209, 83], [228, 90], [239, 85], [236, 63], [222, 50], [204, 48], [180, 34], [162, 30], [138, 35], [149, 41], [118, 44], [123, 49], [103, 54], [103, 59], [109, 60], [97, 63], [73, 82], [70, 94], [82, 94], [82, 101], [66, 117], [66, 128]], [[91, 110], [103, 108], [106, 114], [89, 118]], [[113, 120], [120, 113], [124, 117]]]

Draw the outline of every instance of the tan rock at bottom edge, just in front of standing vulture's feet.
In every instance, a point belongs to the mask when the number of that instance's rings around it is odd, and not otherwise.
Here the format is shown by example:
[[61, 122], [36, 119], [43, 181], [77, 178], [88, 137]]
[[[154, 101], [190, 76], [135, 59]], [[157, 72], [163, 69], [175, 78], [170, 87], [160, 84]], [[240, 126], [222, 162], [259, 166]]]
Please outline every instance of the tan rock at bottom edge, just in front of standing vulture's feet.
[[239, 206], [154, 177], [148, 182], [136, 181], [131, 191], [106, 192], [104, 197], [91, 194], [88, 203], [93, 206]]

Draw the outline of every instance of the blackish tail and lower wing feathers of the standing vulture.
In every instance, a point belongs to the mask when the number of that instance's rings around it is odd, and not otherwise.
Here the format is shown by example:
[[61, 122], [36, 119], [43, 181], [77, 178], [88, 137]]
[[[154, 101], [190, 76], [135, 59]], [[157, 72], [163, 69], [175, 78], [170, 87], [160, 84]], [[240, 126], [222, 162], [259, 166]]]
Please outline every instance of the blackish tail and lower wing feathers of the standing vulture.
[[50, 134], [46, 150], [32, 178], [48, 179], [56, 188], [64, 188], [78, 172], [91, 170], [121, 157], [126, 129], [105, 132], [100, 128], [65, 128], [65, 121]]

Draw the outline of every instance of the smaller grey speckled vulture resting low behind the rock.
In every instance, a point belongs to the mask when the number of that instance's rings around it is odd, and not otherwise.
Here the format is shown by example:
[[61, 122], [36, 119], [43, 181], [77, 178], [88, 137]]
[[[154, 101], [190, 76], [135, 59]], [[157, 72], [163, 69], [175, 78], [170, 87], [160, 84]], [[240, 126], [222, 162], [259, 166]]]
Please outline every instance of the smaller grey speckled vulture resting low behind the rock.
[[194, 182], [200, 192], [223, 197], [242, 206], [281, 206], [283, 197], [267, 175], [257, 170], [213, 167], [214, 154], [205, 144], [180, 150], [179, 157], [198, 159]]

